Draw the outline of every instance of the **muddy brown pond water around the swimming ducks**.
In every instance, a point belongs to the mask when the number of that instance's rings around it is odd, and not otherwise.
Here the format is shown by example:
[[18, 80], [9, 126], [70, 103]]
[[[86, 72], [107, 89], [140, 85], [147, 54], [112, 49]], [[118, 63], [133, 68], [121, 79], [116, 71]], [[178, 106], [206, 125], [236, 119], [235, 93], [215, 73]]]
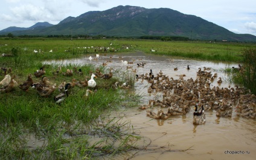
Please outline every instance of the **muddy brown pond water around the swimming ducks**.
[[[110, 58], [112, 57], [112, 58]], [[120, 59], [119, 57], [122, 57]], [[95, 55], [92, 55], [95, 58]], [[124, 64], [123, 61], [133, 61], [133, 64]], [[152, 69], [156, 75], [160, 70], [169, 78], [179, 79], [178, 75], [186, 75], [184, 79], [196, 79], [199, 67], [210, 67], [212, 73], [218, 73], [224, 81], [217, 84], [217, 79], [211, 87], [228, 87], [228, 75], [221, 70], [226, 67], [237, 67], [237, 64], [213, 63], [208, 61], [194, 61], [177, 59], [173, 57], [144, 54], [142, 52], [129, 54], [106, 54], [97, 59], [89, 60], [89, 56], [75, 60], [50, 61], [47, 63], [75, 63], [94, 64], [100, 66], [107, 63], [107, 68], [126, 70], [133, 66], [137, 74], [149, 73]], [[144, 67], [137, 67], [137, 63], [144, 62]], [[189, 65], [190, 70], [187, 70]], [[174, 71], [174, 67], [178, 67]], [[225, 81], [226, 80], [226, 81]], [[147, 81], [137, 81], [136, 93], [144, 95], [141, 103], [148, 103], [149, 99], [161, 100], [161, 93], [147, 93]], [[159, 107], [155, 107], [155, 110]], [[165, 111], [165, 109], [164, 109]], [[167, 111], [167, 109], [166, 109]], [[130, 121], [136, 133], [144, 137], [138, 145], [147, 146], [146, 150], [136, 153], [132, 159], [255, 159], [256, 157], [256, 120], [237, 117], [233, 112], [231, 118], [218, 118], [216, 111], [206, 111], [206, 123], [193, 125], [193, 111], [187, 115], [170, 117], [167, 120], [155, 120], [146, 116], [146, 111], [138, 108], [124, 109], [117, 113], [123, 114], [124, 120]], [[115, 116], [115, 115], [114, 115]], [[240, 154], [225, 154], [238, 151]], [[244, 152], [244, 153], [243, 153]], [[248, 152], [248, 153], [247, 153]], [[243, 154], [242, 154], [243, 153]]]

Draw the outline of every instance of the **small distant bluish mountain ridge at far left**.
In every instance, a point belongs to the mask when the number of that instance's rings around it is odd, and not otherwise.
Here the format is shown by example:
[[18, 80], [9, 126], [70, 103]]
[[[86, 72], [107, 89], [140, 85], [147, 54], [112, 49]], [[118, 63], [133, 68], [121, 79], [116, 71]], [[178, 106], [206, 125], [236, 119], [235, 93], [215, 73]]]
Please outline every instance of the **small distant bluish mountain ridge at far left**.
[[48, 22], [38, 22], [35, 25], [30, 26], [28, 28], [17, 27], [17, 26], [10, 26], [8, 28], [2, 29], [0, 31], [0, 34], [6, 33], [6, 32], [14, 32], [14, 31], [26, 31], [26, 30], [29, 30], [29, 29], [42, 29], [42, 28], [46, 28], [48, 26], [53, 26], [53, 24], [50, 24]]

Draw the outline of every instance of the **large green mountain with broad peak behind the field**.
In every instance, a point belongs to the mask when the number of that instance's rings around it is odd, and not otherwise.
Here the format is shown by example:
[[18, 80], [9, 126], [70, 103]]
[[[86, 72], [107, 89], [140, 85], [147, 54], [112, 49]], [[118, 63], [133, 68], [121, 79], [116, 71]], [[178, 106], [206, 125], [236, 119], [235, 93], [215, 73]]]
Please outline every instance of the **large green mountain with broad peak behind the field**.
[[[170, 8], [147, 9], [129, 5], [105, 11], [88, 11], [78, 17], [69, 16], [53, 26], [8, 32], [14, 35], [165, 35], [199, 40], [256, 42], [254, 35], [235, 34], [200, 17]], [[8, 32], [5, 31], [5, 34]]]

